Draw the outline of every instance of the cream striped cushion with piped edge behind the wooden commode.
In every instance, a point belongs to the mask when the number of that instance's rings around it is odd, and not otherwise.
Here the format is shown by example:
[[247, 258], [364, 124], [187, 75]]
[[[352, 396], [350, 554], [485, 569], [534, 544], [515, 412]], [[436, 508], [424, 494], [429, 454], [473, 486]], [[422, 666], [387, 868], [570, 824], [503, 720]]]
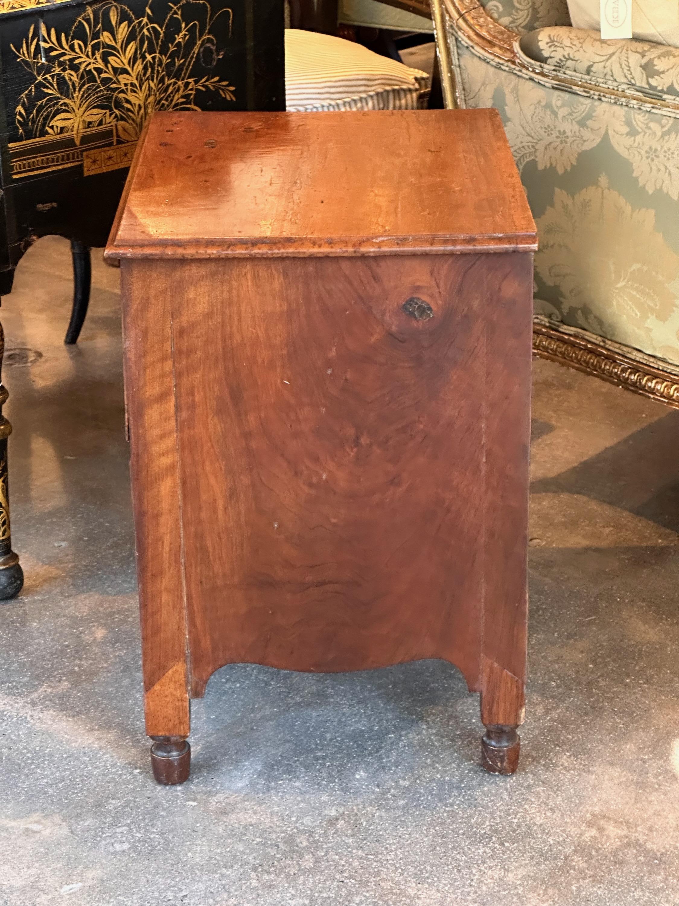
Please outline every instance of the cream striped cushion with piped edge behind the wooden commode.
[[412, 110], [426, 72], [331, 34], [285, 31], [285, 99], [289, 111]]

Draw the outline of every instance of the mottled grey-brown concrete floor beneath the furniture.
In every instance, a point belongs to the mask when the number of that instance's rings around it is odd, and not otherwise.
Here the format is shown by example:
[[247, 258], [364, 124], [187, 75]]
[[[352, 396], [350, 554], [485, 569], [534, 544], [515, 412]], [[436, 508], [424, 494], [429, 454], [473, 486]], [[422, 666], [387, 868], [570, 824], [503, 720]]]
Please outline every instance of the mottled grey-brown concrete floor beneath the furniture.
[[162, 788], [117, 285], [95, 255], [91, 313], [64, 347], [69, 253], [49, 238], [3, 306], [26, 573], [0, 608], [3, 906], [679, 903], [679, 411], [536, 362], [516, 776], [483, 773], [477, 698], [444, 663], [233, 666], [195, 703], [190, 781]]

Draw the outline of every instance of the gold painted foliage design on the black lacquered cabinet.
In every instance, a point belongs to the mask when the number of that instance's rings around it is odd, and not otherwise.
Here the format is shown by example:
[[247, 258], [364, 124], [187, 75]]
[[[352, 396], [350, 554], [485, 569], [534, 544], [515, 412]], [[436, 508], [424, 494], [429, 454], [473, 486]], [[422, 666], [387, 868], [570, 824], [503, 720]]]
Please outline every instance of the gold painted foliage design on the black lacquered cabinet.
[[205, 0], [181, 0], [154, 21], [151, 6], [143, 16], [117, 3], [88, 7], [68, 34], [31, 25], [12, 48], [33, 74], [16, 107], [23, 139], [66, 133], [78, 145], [83, 130], [115, 123], [120, 140], [135, 141], [153, 111], [198, 110], [198, 92], [234, 100], [229, 82], [192, 74], [198, 59], [216, 63], [211, 29], [223, 14], [230, 29], [232, 11], [213, 16]]

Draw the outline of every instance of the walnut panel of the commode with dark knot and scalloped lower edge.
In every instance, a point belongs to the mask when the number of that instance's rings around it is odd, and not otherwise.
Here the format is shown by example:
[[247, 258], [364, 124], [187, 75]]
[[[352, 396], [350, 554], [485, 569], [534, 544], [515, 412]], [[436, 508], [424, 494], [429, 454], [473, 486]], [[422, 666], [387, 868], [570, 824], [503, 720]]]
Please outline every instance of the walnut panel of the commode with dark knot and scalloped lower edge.
[[443, 658], [520, 722], [531, 267], [123, 263], [149, 735], [188, 732], [184, 620], [191, 697], [238, 661]]

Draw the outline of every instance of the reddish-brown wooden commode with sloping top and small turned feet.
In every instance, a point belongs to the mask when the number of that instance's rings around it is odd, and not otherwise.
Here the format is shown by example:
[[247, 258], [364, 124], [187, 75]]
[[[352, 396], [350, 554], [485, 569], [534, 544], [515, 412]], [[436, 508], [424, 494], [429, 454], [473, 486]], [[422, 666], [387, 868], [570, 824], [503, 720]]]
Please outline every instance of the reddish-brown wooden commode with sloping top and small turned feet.
[[243, 661], [448, 660], [516, 768], [535, 248], [496, 111], [153, 118], [106, 254], [160, 783]]

